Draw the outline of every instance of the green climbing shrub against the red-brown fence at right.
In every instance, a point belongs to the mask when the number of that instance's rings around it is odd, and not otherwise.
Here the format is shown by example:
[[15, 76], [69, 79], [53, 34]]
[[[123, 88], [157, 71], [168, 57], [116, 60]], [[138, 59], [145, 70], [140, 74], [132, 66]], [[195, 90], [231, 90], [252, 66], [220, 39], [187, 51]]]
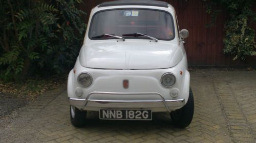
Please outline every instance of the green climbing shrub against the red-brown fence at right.
[[245, 60], [247, 56], [256, 55], [255, 32], [249, 27], [248, 20], [256, 20], [252, 11], [254, 0], [208, 0], [207, 12], [212, 14], [213, 21], [223, 8], [227, 12], [225, 22], [224, 53], [231, 53], [233, 60]]

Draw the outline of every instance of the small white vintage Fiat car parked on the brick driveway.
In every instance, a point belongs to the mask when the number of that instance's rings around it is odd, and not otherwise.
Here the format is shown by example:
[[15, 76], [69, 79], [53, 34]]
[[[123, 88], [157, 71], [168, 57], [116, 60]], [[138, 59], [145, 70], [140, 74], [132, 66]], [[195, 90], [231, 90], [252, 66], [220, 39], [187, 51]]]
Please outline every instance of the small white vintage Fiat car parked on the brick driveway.
[[159, 1], [105, 2], [91, 11], [83, 45], [68, 78], [71, 122], [87, 111], [102, 120], [152, 120], [169, 112], [184, 128], [194, 115], [186, 52], [173, 6]]

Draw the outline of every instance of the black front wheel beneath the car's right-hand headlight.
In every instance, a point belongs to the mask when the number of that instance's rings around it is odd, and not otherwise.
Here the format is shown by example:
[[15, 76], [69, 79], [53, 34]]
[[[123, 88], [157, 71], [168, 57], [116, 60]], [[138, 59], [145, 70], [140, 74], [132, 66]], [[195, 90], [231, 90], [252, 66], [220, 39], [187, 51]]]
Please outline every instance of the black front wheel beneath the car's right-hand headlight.
[[189, 89], [189, 96], [188, 96], [186, 105], [178, 110], [170, 112], [170, 118], [172, 119], [173, 124], [176, 127], [185, 128], [191, 123], [193, 119], [193, 115], [194, 115], [194, 97], [193, 97], [192, 90]]

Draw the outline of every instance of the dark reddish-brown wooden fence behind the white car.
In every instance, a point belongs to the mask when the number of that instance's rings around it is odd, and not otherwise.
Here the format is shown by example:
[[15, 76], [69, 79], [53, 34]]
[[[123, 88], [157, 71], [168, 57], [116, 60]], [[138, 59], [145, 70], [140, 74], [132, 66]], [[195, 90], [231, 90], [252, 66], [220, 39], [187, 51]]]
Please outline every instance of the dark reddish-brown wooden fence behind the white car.
[[[79, 8], [87, 12], [84, 17], [88, 21], [91, 9], [107, 0], [83, 0]], [[186, 28], [189, 37], [186, 39], [186, 52], [189, 66], [245, 66], [256, 65], [256, 57], [246, 61], [233, 61], [232, 56], [223, 53], [223, 37], [225, 32], [225, 14], [220, 14], [215, 26], [206, 27], [210, 15], [206, 14], [205, 1], [202, 0], [166, 0], [177, 11], [180, 29]], [[255, 22], [251, 23], [256, 30]]]

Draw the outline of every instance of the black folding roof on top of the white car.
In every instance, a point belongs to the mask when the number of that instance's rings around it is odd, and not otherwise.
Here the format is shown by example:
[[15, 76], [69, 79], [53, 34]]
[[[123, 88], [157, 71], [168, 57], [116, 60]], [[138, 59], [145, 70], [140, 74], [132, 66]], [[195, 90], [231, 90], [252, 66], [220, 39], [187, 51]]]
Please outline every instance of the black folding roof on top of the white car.
[[140, 6], [157, 6], [168, 8], [168, 3], [153, 0], [119, 0], [104, 2], [98, 7], [109, 7], [109, 6], [126, 6], [126, 5], [140, 5]]

